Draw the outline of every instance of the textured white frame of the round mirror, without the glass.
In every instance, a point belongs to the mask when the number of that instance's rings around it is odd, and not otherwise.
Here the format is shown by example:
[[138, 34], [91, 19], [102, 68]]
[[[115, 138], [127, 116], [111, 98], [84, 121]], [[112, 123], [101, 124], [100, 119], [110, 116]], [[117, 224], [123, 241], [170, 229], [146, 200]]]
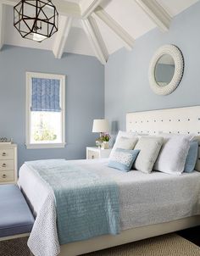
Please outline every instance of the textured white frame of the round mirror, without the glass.
[[[158, 59], [161, 58], [161, 56], [163, 56], [164, 54], [169, 54], [174, 59], [175, 74], [167, 86], [159, 86], [155, 79], [155, 68], [156, 64], [158, 63]], [[148, 79], [150, 82], [150, 87], [152, 88], [153, 92], [158, 95], [168, 95], [171, 92], [174, 92], [176, 87], [180, 84], [183, 71], [184, 59], [181, 50], [175, 45], [170, 44], [159, 47], [158, 51], [153, 55], [149, 66]]]

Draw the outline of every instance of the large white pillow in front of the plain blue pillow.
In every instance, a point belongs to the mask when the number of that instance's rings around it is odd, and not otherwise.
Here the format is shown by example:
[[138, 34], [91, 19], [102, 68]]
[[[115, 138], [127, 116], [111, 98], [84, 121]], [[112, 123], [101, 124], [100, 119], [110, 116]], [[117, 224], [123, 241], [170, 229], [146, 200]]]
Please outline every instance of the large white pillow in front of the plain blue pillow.
[[181, 175], [185, 168], [186, 156], [190, 148], [191, 135], [162, 134], [164, 145], [160, 150], [153, 170]]

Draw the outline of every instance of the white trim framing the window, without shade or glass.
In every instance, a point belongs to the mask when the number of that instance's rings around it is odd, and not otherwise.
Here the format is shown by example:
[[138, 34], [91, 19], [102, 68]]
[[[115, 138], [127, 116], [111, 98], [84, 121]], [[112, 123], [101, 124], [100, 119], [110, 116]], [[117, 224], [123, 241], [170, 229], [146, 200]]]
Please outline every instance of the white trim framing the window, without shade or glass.
[[[62, 143], [31, 143], [31, 78], [58, 79], [60, 81], [61, 109], [62, 109]], [[62, 148], [65, 147], [65, 75], [53, 75], [35, 72], [26, 72], [26, 120], [25, 145], [28, 149], [34, 148]]]

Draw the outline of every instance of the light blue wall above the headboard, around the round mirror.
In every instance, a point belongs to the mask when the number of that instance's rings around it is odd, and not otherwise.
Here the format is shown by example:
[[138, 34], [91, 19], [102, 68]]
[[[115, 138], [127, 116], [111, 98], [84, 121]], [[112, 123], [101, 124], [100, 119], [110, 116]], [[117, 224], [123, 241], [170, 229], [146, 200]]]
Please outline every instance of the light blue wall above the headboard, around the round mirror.
[[[113, 123], [113, 133], [125, 130], [127, 112], [168, 109], [200, 104], [200, 3], [178, 14], [170, 30], [158, 28], [136, 40], [131, 52], [114, 53], [105, 67], [105, 115]], [[148, 67], [153, 54], [164, 44], [181, 48], [185, 72], [180, 86], [169, 96], [150, 89]]]

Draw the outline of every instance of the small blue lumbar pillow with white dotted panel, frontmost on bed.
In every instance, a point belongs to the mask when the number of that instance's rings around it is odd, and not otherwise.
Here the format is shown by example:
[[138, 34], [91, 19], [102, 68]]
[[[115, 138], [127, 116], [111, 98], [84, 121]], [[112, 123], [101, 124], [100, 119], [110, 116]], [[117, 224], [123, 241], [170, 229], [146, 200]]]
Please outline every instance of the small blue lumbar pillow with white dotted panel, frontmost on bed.
[[118, 170], [129, 171], [139, 152], [140, 150], [117, 148], [109, 159], [108, 166]]

